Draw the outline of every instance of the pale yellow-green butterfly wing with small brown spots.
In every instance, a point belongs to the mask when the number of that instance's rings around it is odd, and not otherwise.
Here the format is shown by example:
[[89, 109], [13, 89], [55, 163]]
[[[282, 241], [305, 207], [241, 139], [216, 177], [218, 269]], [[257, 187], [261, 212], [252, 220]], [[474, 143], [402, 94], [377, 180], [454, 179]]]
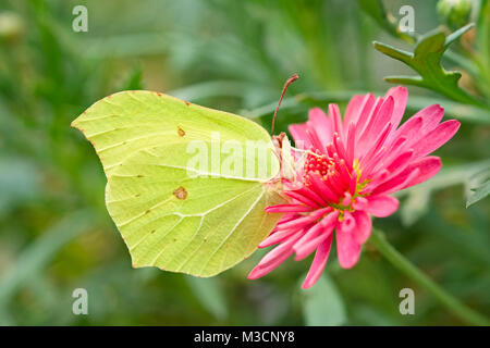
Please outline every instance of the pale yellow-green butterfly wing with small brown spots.
[[280, 219], [264, 211], [282, 202], [269, 183], [279, 160], [268, 133], [249, 120], [124, 91], [73, 126], [102, 162], [106, 203], [136, 268], [215, 275], [248, 257]]

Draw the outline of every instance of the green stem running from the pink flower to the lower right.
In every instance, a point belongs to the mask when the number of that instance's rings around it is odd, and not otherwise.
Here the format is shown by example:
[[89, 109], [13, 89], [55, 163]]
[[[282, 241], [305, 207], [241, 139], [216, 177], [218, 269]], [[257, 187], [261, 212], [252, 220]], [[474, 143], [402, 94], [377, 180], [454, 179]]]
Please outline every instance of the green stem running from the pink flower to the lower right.
[[473, 309], [466, 307], [458, 299], [446, 293], [419, 269], [417, 269], [411, 261], [408, 261], [402, 253], [393, 248], [381, 231], [372, 228], [372, 235], [369, 240], [396, 269], [405, 273], [405, 275], [412, 278], [415, 283], [426, 288], [427, 291], [432, 294], [436, 299], [438, 299], [460, 319], [471, 325], [490, 325], [490, 321], [487, 318], [475, 312]]

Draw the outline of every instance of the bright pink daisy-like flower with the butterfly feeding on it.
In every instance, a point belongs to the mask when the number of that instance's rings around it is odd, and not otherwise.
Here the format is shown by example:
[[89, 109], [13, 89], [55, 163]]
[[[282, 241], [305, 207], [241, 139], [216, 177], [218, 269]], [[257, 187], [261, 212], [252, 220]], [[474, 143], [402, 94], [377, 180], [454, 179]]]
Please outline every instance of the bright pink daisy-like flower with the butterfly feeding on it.
[[[330, 104], [328, 115], [311, 109], [306, 123], [290, 126], [306, 159], [294, 178], [283, 178], [290, 202], [266, 208], [283, 216], [259, 247], [278, 246], [248, 278], [268, 274], [293, 253], [297, 261], [315, 251], [303, 288], [313, 286], [323, 272], [334, 231], [341, 266], [354, 266], [371, 233], [370, 215], [392, 214], [399, 200], [391, 194], [439, 172], [441, 160], [428, 154], [451, 139], [460, 123], [440, 123], [444, 110], [430, 105], [399, 127], [406, 100], [403, 87], [383, 98], [355, 96], [343, 120], [339, 107]], [[298, 151], [293, 154], [299, 162]]]

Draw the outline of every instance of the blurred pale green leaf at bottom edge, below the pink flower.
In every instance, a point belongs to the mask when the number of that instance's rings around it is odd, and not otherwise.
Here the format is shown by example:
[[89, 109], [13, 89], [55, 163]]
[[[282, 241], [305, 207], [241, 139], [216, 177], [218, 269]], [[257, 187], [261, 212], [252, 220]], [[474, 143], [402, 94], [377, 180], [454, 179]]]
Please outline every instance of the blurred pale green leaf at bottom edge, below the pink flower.
[[303, 315], [308, 326], [340, 326], [347, 318], [344, 302], [332, 279], [322, 275], [317, 284], [302, 290]]

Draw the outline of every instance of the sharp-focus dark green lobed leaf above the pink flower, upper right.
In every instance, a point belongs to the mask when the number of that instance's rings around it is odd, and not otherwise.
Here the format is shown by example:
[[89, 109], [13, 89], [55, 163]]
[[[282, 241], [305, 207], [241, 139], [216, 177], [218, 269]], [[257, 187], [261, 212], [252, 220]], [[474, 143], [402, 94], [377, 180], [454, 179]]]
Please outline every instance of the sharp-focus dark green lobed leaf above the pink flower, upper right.
[[460, 72], [448, 72], [441, 65], [442, 55], [448, 47], [471, 27], [473, 24], [468, 24], [449, 36], [440, 29], [430, 32], [419, 38], [413, 53], [375, 41], [378, 51], [405, 63], [418, 73], [418, 76], [388, 76], [385, 80], [425, 87], [453, 100], [488, 109], [489, 105], [483, 101], [458, 87]]

